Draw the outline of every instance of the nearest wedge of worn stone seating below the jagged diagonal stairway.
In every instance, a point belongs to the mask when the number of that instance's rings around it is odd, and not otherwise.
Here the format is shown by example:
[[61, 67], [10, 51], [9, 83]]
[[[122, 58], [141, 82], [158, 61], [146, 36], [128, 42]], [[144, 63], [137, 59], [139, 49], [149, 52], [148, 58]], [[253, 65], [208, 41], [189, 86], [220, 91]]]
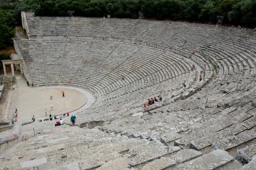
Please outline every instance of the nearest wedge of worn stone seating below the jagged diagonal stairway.
[[[202, 153], [140, 137], [83, 129], [52, 121], [22, 126], [22, 143], [0, 159], [1, 169], [244, 169], [255, 164], [255, 145], [233, 157], [224, 150]], [[33, 129], [35, 130], [35, 136]], [[51, 133], [49, 133], [51, 131]], [[34, 136], [34, 137], [32, 137]], [[76, 140], [74, 140], [76, 139]], [[243, 153], [243, 154], [241, 154]], [[250, 157], [249, 164], [239, 162]]]

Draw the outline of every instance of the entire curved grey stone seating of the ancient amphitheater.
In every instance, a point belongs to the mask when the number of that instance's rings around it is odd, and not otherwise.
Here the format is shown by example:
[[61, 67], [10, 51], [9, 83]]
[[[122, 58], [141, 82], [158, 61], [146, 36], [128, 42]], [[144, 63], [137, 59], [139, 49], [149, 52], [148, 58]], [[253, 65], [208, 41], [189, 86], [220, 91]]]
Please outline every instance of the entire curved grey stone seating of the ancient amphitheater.
[[72, 112], [76, 127], [16, 127], [0, 169], [256, 169], [252, 29], [31, 12], [22, 25], [27, 81], [83, 89], [93, 104]]

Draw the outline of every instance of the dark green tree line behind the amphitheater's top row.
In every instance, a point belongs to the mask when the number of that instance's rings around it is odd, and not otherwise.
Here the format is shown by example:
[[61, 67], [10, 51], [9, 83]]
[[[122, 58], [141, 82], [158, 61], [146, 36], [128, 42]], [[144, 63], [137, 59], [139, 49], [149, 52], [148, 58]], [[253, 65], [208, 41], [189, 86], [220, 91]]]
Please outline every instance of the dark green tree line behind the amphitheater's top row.
[[[13, 28], [20, 25], [20, 12], [34, 11], [39, 16], [111, 17], [186, 20], [216, 24], [256, 26], [256, 0], [2, 0], [0, 3], [0, 48], [11, 43]], [[3, 29], [2, 29], [3, 28]]]

